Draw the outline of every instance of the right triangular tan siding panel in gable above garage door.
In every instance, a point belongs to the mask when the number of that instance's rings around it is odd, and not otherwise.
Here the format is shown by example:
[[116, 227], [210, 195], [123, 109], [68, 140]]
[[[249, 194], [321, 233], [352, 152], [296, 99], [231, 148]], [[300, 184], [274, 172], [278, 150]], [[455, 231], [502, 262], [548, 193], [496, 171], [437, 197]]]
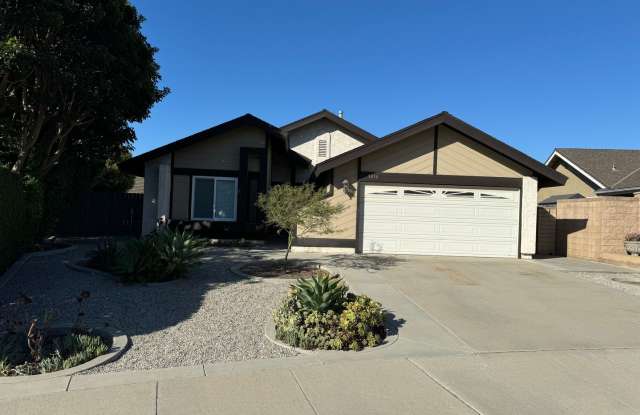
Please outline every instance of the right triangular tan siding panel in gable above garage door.
[[531, 172], [485, 146], [439, 127], [437, 174], [455, 176], [523, 177]]

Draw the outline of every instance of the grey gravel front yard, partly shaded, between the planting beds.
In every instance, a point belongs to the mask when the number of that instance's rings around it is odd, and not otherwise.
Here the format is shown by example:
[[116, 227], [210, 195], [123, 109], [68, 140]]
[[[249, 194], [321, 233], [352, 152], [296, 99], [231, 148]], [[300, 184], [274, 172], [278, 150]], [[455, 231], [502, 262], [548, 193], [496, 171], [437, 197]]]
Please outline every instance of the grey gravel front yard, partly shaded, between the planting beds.
[[132, 340], [119, 360], [92, 373], [294, 354], [264, 336], [264, 325], [289, 283], [252, 282], [228, 271], [231, 264], [261, 259], [270, 252], [211, 248], [204, 264], [188, 279], [143, 286], [73, 271], [62, 263], [78, 261], [92, 248], [81, 246], [72, 253], [29, 260], [1, 290], [0, 315], [14, 313], [16, 306], [8, 304], [24, 293], [33, 299], [26, 306], [30, 314], [56, 308], [60, 314], [54, 324], [70, 324], [78, 310], [74, 297], [89, 291], [86, 324], [120, 329]]

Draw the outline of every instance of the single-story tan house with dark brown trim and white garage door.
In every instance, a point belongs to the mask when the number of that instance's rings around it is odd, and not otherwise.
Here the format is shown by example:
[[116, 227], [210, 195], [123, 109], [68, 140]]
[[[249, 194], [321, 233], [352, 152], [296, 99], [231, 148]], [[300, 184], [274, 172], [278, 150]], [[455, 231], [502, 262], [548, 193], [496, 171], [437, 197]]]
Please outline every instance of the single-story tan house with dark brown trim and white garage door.
[[144, 232], [160, 215], [259, 232], [258, 193], [312, 181], [345, 209], [301, 249], [514, 258], [535, 254], [538, 189], [566, 181], [446, 112], [380, 139], [328, 111], [280, 128], [247, 114], [121, 168], [145, 177]]

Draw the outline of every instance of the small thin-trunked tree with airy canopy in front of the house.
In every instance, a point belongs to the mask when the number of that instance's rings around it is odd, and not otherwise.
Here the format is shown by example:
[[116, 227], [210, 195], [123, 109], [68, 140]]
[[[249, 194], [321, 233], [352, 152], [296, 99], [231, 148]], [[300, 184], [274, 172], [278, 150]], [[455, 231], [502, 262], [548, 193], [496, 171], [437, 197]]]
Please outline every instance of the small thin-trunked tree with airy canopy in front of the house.
[[340, 204], [329, 203], [326, 193], [323, 190], [315, 190], [310, 184], [273, 186], [267, 194], [258, 197], [257, 205], [264, 211], [265, 222], [268, 225], [275, 226], [278, 234], [282, 231], [287, 233], [285, 272], [293, 241], [308, 234], [335, 232], [331, 226], [331, 219], [344, 210]]

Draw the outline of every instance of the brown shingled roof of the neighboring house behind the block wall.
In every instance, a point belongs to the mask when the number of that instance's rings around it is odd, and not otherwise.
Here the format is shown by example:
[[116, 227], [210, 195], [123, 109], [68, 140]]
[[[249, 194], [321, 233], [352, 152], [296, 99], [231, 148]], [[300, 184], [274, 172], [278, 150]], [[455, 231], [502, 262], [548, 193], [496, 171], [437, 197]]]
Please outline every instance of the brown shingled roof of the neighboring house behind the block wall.
[[600, 190], [640, 187], [640, 150], [557, 148], [547, 166], [562, 160]]

